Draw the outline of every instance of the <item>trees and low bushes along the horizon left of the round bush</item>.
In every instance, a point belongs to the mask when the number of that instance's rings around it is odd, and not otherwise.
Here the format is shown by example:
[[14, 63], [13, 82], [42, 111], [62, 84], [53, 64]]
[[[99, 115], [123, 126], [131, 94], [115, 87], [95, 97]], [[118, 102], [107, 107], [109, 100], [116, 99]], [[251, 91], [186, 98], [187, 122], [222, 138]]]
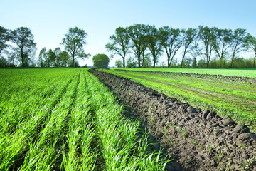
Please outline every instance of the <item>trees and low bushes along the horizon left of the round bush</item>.
[[[87, 43], [85, 38], [87, 33], [78, 27], [69, 28], [65, 34], [61, 45], [65, 51], [55, 48], [54, 50], [42, 48], [38, 63], [34, 56], [36, 53], [36, 43], [33, 40], [31, 29], [27, 27], [16, 28], [13, 31], [0, 26], [0, 67], [14, 67], [15, 61], [20, 62], [20, 66], [40, 66], [40, 67], [66, 67], [78, 66], [78, 58], [88, 58], [83, 50], [83, 46]], [[7, 57], [2, 56], [5, 54]]]

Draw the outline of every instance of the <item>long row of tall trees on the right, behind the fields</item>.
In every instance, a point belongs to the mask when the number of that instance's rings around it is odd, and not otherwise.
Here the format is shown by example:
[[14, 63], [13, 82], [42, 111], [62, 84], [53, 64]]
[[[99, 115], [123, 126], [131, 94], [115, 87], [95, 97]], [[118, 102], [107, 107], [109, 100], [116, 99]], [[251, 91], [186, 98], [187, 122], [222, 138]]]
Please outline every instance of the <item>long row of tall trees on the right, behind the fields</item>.
[[[116, 61], [118, 67], [155, 67], [159, 58], [165, 54], [166, 59], [162, 65], [167, 63], [167, 67], [209, 68], [212, 60], [213, 65], [218, 63], [220, 68], [227, 67], [227, 63], [232, 68], [234, 63], [247, 62], [247, 59], [240, 58], [238, 54], [249, 49], [254, 52], [254, 58], [249, 60], [252, 63], [250, 67], [255, 67], [256, 59], [256, 38], [242, 28], [231, 30], [198, 26], [179, 29], [134, 24], [126, 28], [116, 28], [105, 48], [112, 55], [122, 57], [122, 61]], [[179, 64], [176, 58], [178, 51], [181, 52]], [[127, 57], [129, 53], [135, 58]]]

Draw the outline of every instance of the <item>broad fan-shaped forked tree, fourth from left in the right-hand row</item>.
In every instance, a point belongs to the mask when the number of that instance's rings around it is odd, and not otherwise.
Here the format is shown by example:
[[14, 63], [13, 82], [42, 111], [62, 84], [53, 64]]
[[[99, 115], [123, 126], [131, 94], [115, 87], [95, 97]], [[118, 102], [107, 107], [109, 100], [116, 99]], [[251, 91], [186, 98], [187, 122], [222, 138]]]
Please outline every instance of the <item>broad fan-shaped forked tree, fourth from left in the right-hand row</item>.
[[159, 28], [159, 39], [161, 46], [164, 47], [167, 55], [167, 67], [170, 68], [171, 62], [174, 60], [179, 48], [181, 48], [181, 31], [180, 29], [169, 28], [164, 26]]

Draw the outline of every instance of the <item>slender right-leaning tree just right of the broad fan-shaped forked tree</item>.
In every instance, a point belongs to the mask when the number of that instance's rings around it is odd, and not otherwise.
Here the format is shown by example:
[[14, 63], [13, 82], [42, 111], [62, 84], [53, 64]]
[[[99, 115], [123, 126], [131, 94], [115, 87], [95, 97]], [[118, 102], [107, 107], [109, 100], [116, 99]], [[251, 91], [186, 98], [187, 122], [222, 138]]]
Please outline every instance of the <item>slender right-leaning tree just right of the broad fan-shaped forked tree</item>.
[[181, 68], [182, 68], [185, 55], [188, 52], [187, 51], [188, 47], [193, 41], [193, 38], [196, 36], [196, 29], [194, 28], [188, 28], [187, 30], [182, 29], [181, 33], [182, 33], [182, 40], [183, 40], [183, 46], [184, 46], [183, 56], [181, 60]]

